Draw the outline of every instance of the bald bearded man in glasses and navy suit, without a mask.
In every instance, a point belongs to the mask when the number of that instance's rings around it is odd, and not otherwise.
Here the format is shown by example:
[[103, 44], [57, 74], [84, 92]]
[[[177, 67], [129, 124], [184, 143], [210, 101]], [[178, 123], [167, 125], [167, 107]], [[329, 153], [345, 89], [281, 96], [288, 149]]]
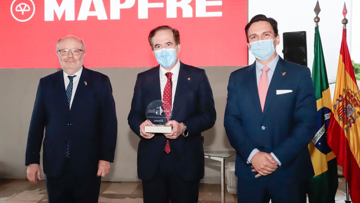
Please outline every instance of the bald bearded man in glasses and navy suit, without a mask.
[[60, 39], [62, 70], [40, 79], [28, 134], [27, 178], [44, 173], [49, 202], [98, 202], [100, 180], [110, 171], [117, 137], [115, 102], [109, 78], [86, 69], [85, 45], [73, 36]]

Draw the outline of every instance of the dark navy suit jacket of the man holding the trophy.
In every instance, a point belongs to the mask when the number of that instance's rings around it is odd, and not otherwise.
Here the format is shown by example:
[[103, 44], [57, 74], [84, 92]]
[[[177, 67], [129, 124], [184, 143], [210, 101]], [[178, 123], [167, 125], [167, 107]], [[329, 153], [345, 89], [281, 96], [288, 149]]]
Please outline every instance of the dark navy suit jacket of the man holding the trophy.
[[[166, 138], [156, 134], [151, 139], [140, 135], [140, 124], [146, 120], [147, 106], [161, 100], [159, 66], [139, 73], [128, 121], [132, 131], [140, 137], [138, 146], [138, 177], [150, 181], [164, 154]], [[184, 122], [188, 136], [169, 139], [170, 155], [175, 170], [184, 181], [197, 181], [204, 177], [204, 150], [201, 133], [210, 129], [216, 120], [214, 99], [205, 70], [180, 62], [172, 118]]]

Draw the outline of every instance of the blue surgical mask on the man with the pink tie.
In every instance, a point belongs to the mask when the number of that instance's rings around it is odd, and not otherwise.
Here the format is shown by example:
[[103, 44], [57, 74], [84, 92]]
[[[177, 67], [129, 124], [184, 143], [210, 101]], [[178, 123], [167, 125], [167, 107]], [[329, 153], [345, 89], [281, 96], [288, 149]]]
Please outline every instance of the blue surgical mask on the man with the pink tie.
[[256, 59], [266, 61], [275, 52], [274, 39], [258, 40], [256, 42], [249, 43], [250, 51]]

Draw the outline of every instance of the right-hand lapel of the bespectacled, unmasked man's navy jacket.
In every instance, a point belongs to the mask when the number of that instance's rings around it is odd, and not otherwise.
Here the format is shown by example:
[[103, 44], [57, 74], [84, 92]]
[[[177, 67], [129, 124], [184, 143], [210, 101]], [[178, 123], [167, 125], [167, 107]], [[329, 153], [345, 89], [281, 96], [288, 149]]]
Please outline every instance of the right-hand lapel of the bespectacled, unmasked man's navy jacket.
[[[86, 82], [86, 85], [85, 85]], [[76, 92], [74, 95], [74, 99], [72, 100], [71, 109], [76, 108], [76, 106], [79, 104], [79, 102], [84, 98], [84, 94], [87, 91], [87, 88], [90, 88], [91, 85], [91, 77], [90, 77], [90, 70], [86, 69], [84, 66], [82, 66], [82, 72], [80, 75], [79, 83], [76, 87]]]

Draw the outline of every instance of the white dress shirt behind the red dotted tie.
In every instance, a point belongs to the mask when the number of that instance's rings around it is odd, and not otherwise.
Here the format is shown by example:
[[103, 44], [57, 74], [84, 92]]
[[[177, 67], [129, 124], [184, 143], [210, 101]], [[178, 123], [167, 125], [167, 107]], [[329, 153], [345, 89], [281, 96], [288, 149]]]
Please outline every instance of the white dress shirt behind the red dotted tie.
[[[179, 71], [180, 71], [180, 60], [177, 61], [174, 68], [170, 70], [170, 73], [172, 73], [171, 80], [172, 80], [172, 99], [171, 99], [171, 109], [174, 106], [174, 98], [175, 98], [175, 92], [176, 92], [176, 85], [177, 85], [177, 78], [179, 78]], [[166, 68], [163, 68], [160, 65], [160, 90], [161, 90], [161, 100], [163, 98], [164, 94], [164, 88], [166, 86], [167, 77], [165, 73], [169, 71], [166, 70]]]

